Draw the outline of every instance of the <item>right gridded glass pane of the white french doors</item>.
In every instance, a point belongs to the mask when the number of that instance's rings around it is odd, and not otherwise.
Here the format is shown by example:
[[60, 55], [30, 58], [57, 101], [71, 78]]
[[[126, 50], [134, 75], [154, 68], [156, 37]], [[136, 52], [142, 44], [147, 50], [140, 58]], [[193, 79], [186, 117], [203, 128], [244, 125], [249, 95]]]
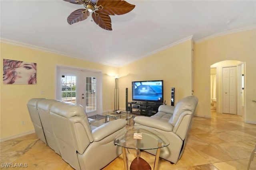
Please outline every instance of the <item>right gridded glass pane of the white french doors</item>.
[[96, 78], [86, 77], [86, 112], [96, 111]]

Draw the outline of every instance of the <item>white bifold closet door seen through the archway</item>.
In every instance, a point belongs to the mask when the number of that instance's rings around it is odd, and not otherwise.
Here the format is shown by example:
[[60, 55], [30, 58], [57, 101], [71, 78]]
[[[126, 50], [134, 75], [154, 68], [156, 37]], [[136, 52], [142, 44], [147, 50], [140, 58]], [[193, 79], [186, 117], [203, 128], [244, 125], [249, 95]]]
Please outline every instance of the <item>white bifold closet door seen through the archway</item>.
[[223, 113], [236, 114], [236, 67], [222, 68]]

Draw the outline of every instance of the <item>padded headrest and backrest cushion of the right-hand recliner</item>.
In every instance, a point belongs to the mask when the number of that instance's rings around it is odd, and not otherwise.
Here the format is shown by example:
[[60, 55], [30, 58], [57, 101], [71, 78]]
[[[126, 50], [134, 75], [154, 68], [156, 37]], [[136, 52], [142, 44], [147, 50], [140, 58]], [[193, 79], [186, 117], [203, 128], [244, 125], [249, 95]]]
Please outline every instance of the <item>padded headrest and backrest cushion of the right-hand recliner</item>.
[[188, 113], [192, 115], [192, 113], [194, 113], [194, 109], [196, 108], [197, 102], [198, 102], [198, 98], [195, 98], [194, 96], [188, 96], [180, 100], [174, 108], [174, 112], [172, 117], [169, 120], [169, 123], [175, 126], [180, 115], [186, 110], [191, 111]]

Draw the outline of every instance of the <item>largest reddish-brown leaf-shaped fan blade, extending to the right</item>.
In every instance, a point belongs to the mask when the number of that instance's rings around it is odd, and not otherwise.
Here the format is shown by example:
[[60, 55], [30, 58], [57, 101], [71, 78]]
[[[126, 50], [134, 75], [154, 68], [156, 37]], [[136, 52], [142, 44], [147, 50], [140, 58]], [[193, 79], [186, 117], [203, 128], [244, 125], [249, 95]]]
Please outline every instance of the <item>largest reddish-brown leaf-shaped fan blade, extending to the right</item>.
[[103, 6], [103, 9], [98, 10], [108, 15], [126, 14], [135, 8], [135, 5], [129, 4], [124, 0], [98, 0], [97, 5]]

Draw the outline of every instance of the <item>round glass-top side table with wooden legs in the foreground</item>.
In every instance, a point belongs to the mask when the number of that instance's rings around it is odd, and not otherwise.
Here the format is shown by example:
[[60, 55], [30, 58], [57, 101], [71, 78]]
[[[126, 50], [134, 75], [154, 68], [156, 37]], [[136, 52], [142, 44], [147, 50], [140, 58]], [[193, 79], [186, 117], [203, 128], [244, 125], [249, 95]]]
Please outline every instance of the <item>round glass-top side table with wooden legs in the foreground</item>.
[[127, 129], [125, 134], [118, 135], [114, 144], [122, 147], [124, 157], [124, 168], [128, 169], [126, 159], [126, 148], [136, 149], [137, 156], [132, 161], [130, 169], [132, 170], [151, 170], [150, 165], [140, 157], [140, 150], [157, 149], [154, 162], [154, 170], [156, 170], [159, 160], [160, 149], [170, 145], [170, 142], [164, 135], [149, 127], [136, 125]]

